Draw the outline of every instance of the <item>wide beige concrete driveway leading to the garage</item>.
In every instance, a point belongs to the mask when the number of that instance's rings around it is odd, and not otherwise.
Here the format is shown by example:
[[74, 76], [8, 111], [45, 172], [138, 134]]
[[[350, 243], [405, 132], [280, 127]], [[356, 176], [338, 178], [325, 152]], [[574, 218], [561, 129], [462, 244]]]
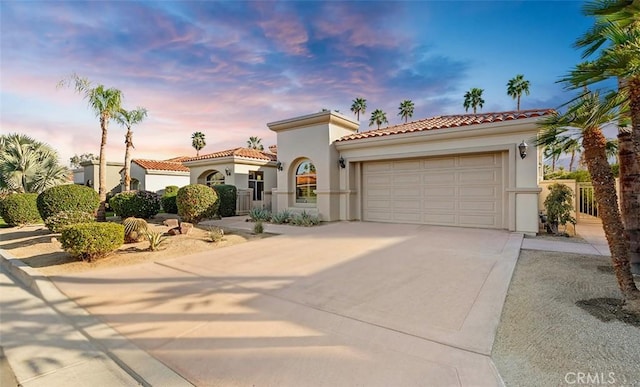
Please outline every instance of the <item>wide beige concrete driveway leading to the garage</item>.
[[53, 280], [198, 386], [501, 384], [490, 353], [520, 234], [360, 222], [283, 229]]

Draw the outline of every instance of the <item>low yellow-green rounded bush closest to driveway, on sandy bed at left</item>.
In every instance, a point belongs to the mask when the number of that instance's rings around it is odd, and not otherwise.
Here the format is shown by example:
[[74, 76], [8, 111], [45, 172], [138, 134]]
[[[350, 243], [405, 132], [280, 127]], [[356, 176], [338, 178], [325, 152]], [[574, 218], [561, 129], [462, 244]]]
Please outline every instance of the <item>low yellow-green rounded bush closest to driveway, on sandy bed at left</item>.
[[117, 223], [78, 223], [67, 226], [60, 236], [62, 248], [83, 261], [102, 258], [124, 244], [124, 226]]

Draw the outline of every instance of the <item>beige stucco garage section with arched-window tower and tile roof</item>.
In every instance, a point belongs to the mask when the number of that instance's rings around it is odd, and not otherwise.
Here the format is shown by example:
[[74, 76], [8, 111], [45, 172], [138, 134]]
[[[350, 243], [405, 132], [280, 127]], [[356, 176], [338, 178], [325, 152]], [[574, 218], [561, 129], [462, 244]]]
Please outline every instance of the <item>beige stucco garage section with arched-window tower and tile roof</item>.
[[518, 145], [532, 144], [552, 112], [436, 116], [361, 133], [335, 111], [269, 123], [281, 169], [272, 210], [537, 233], [542, 160], [534, 145], [521, 158]]

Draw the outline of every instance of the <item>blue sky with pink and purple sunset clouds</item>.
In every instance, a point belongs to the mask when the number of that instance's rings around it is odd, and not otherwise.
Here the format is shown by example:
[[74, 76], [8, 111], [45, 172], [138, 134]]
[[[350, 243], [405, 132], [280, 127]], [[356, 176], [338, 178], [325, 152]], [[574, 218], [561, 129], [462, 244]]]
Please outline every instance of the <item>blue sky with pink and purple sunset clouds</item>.
[[[558, 108], [558, 79], [581, 61], [572, 47], [592, 20], [578, 1], [0, 1], [0, 134], [53, 146], [61, 162], [98, 154], [100, 126], [80, 94], [56, 87], [76, 73], [120, 89], [148, 110], [133, 158], [195, 156], [276, 143], [267, 123], [338, 110], [360, 130], [375, 109], [391, 125], [402, 100], [412, 120], [515, 110], [506, 84], [529, 80], [521, 109]], [[109, 125], [107, 159], [124, 160], [125, 129]]]

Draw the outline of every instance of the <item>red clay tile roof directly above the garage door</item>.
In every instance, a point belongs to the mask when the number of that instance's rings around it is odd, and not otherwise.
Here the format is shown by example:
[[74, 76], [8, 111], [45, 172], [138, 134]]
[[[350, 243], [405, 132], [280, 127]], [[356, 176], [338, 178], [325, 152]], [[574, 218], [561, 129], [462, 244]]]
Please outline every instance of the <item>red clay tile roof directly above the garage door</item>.
[[456, 128], [460, 126], [469, 126], [477, 124], [486, 124], [491, 122], [512, 121], [531, 117], [541, 117], [550, 115], [553, 109], [532, 109], [520, 111], [507, 111], [495, 113], [478, 113], [478, 114], [458, 114], [449, 116], [435, 116], [425, 118], [423, 120], [413, 121], [406, 124], [389, 126], [378, 130], [370, 130], [368, 132], [354, 133], [344, 136], [337, 141], [349, 141], [361, 138], [372, 138], [390, 136], [402, 133], [421, 132], [425, 130]]

